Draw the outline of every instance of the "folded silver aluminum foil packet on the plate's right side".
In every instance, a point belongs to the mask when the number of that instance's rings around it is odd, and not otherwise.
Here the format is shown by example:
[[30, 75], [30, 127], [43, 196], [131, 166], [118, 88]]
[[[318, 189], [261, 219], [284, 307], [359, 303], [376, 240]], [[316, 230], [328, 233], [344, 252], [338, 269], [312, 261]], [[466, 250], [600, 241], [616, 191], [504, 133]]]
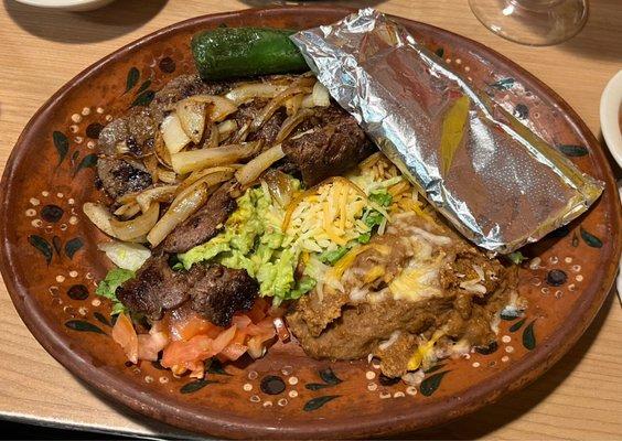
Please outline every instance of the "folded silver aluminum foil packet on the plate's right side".
[[480, 247], [512, 252], [602, 193], [602, 182], [373, 9], [291, 39], [332, 97]]

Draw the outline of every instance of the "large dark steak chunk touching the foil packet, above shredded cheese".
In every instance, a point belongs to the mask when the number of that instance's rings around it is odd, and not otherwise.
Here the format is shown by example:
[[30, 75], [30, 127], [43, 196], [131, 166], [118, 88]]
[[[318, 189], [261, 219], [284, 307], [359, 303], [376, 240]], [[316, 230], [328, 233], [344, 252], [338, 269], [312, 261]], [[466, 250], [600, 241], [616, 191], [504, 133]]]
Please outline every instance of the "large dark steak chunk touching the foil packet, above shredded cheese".
[[352, 169], [375, 151], [356, 120], [332, 105], [304, 125], [309, 133], [282, 143], [308, 186]]

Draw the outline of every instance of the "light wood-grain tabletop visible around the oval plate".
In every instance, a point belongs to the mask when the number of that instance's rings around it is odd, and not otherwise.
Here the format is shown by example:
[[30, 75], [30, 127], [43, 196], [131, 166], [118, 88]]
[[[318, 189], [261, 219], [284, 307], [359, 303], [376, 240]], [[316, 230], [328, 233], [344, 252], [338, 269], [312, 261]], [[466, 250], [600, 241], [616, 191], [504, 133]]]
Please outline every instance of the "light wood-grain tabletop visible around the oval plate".
[[[0, 172], [34, 111], [89, 64], [171, 23], [270, 3], [278, 2], [119, 0], [98, 11], [69, 13], [2, 0]], [[600, 95], [608, 79], [622, 68], [620, 0], [592, 0], [583, 31], [553, 47], [526, 47], [497, 37], [479, 23], [467, 0], [335, 3], [375, 6], [383, 12], [446, 28], [495, 49], [553, 87], [593, 133], [601, 137]], [[3, 283], [0, 283], [0, 417], [124, 433], [174, 435], [173, 428], [103, 398], [47, 355], [18, 316]], [[619, 300], [612, 293], [580, 342], [536, 383], [472, 416], [418, 435], [622, 439]]]

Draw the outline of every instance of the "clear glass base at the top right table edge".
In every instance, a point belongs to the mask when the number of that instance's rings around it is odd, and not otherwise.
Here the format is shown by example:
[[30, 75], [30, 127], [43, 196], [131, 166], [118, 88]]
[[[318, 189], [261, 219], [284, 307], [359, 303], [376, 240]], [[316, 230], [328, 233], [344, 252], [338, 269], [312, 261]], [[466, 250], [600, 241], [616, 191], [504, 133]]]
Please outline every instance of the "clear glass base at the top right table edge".
[[494, 33], [534, 46], [568, 40], [588, 20], [587, 0], [469, 0], [469, 4]]

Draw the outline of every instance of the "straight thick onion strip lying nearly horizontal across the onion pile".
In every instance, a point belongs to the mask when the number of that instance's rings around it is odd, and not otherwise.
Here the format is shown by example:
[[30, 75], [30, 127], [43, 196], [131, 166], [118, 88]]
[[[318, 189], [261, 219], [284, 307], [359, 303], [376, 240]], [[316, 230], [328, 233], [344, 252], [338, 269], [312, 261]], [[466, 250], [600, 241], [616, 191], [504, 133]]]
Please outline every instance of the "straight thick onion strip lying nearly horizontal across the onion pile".
[[213, 149], [191, 150], [171, 157], [173, 170], [179, 174], [205, 169], [212, 165], [229, 164], [255, 155], [261, 143], [259, 141], [242, 144], [215, 147]]

